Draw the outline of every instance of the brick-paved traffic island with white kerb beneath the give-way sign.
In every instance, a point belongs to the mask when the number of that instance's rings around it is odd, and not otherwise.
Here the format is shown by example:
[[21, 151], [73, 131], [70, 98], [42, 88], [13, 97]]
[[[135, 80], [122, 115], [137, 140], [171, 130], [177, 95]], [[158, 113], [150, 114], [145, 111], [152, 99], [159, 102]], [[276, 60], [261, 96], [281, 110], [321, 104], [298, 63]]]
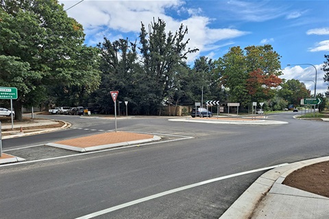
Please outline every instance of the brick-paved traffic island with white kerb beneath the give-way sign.
[[160, 139], [161, 138], [158, 136], [149, 134], [118, 131], [51, 142], [45, 145], [83, 153], [88, 151], [98, 151], [101, 149], [110, 149], [119, 146], [141, 144]]

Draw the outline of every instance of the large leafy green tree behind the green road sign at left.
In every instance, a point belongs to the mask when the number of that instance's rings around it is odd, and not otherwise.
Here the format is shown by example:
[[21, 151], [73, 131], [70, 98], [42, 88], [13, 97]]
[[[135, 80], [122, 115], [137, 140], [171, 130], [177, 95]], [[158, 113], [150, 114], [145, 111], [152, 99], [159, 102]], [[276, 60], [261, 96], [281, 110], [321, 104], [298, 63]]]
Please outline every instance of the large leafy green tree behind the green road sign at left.
[[[3, 81], [3, 86], [16, 83], [19, 88], [19, 98], [14, 101], [16, 119], [22, 119], [22, 105], [34, 105], [47, 99], [45, 90], [59, 88], [66, 92], [70, 86], [86, 90], [97, 88], [98, 66], [94, 63], [97, 55], [83, 42], [82, 25], [69, 18], [56, 0], [0, 2], [0, 55], [29, 64], [27, 73], [19, 75], [23, 80]], [[90, 53], [94, 54], [91, 58]], [[3, 73], [8, 74], [8, 71]]]

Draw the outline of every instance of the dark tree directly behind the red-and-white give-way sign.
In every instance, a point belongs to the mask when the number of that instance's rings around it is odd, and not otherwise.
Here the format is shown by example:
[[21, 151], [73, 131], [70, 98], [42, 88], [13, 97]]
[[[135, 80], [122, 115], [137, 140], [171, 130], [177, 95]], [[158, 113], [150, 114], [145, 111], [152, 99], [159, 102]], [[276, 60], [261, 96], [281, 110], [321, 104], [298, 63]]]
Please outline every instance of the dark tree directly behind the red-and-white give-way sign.
[[[119, 39], [110, 42], [108, 38], [97, 45], [101, 55], [101, 86], [93, 95], [94, 105], [105, 113], [112, 113], [114, 103], [111, 90], [119, 90], [118, 101], [128, 101], [130, 114], [138, 114], [143, 88], [147, 88], [147, 78], [141, 70], [136, 51], [136, 42]], [[141, 97], [141, 98], [139, 98]]]

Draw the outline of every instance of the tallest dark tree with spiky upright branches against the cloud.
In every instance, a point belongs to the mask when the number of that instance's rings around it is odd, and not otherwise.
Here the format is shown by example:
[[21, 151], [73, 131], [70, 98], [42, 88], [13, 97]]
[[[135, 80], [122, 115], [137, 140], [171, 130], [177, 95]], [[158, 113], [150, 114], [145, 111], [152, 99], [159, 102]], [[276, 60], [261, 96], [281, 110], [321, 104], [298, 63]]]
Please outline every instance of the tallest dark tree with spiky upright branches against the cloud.
[[149, 25], [149, 31], [142, 23], [140, 42], [148, 88], [145, 89], [145, 114], [161, 113], [160, 107], [164, 99], [172, 96], [175, 86], [178, 86], [176, 69], [186, 62], [186, 55], [197, 49], [186, 48], [188, 40], [184, 40], [187, 27], [180, 25], [173, 34], [166, 33], [166, 24], [160, 18]]

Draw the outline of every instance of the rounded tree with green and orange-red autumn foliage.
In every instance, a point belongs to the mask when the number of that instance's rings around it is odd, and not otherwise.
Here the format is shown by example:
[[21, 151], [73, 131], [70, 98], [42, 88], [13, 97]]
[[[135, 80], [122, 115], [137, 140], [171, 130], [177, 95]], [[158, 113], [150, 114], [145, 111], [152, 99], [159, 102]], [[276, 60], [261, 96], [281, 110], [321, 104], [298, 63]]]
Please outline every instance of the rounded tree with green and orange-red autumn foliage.
[[242, 105], [271, 99], [281, 83], [280, 55], [269, 44], [233, 47], [216, 64], [230, 101]]

